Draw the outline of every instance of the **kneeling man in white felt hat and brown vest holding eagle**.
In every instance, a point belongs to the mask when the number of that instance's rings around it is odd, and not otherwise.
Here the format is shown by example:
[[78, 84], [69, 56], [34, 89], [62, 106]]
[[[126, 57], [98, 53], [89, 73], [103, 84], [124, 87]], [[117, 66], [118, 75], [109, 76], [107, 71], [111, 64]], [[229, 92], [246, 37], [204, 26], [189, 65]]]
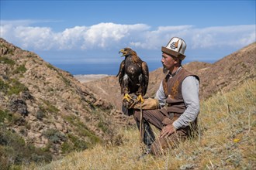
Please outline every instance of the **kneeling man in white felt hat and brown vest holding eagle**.
[[[156, 93], [160, 109], [143, 110], [144, 144], [153, 155], [164, 154], [166, 148], [174, 147], [196, 129], [199, 114], [199, 77], [182, 67], [185, 59], [186, 44], [183, 39], [174, 37], [166, 47], [162, 46], [164, 73]], [[137, 125], [140, 124], [140, 110], [133, 114]], [[153, 124], [161, 131], [155, 139], [150, 128]]]

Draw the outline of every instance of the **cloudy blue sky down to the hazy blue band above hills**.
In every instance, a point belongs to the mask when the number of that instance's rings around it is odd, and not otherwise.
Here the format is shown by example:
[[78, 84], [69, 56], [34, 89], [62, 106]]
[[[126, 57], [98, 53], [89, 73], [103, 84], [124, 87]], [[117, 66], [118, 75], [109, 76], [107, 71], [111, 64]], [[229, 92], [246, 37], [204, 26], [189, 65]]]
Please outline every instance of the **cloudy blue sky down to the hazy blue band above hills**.
[[1, 0], [0, 16], [2, 38], [71, 73], [100, 63], [95, 73], [114, 74], [126, 46], [155, 70], [173, 36], [187, 43], [185, 63], [213, 63], [256, 39], [255, 1]]

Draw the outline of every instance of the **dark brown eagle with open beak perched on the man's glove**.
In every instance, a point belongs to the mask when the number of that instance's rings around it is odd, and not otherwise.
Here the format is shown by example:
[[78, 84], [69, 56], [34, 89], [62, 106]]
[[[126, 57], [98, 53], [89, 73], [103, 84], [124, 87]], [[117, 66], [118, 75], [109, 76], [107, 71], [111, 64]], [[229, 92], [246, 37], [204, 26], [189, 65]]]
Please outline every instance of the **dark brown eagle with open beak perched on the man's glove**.
[[119, 51], [125, 56], [119, 67], [119, 83], [121, 93], [124, 94], [123, 101], [130, 101], [130, 93], [137, 95], [137, 100], [144, 103], [143, 96], [147, 92], [148, 85], [148, 67], [147, 63], [137, 56], [137, 53], [130, 48], [124, 48]]

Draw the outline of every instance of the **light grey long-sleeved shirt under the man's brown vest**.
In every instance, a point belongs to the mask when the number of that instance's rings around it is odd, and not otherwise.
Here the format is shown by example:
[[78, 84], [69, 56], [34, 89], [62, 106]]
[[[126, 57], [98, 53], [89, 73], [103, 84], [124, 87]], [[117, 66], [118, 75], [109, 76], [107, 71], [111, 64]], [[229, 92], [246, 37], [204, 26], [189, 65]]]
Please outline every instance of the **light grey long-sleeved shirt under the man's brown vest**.
[[[185, 128], [190, 122], [195, 121], [199, 114], [199, 80], [195, 76], [187, 76], [182, 82], [182, 97], [185, 103], [184, 113], [173, 122], [175, 129]], [[156, 93], [156, 99], [159, 100], [161, 107], [164, 107], [166, 96], [164, 94], [163, 83], [161, 82]]]

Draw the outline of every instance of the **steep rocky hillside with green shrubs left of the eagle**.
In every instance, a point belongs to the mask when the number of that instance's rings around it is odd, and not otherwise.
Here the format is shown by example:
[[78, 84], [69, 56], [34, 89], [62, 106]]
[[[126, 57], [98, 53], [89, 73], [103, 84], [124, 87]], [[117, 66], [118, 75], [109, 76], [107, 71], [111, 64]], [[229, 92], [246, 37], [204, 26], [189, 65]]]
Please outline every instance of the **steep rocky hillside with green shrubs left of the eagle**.
[[129, 122], [70, 73], [0, 39], [2, 161], [47, 161], [97, 142], [119, 142], [121, 123]]

